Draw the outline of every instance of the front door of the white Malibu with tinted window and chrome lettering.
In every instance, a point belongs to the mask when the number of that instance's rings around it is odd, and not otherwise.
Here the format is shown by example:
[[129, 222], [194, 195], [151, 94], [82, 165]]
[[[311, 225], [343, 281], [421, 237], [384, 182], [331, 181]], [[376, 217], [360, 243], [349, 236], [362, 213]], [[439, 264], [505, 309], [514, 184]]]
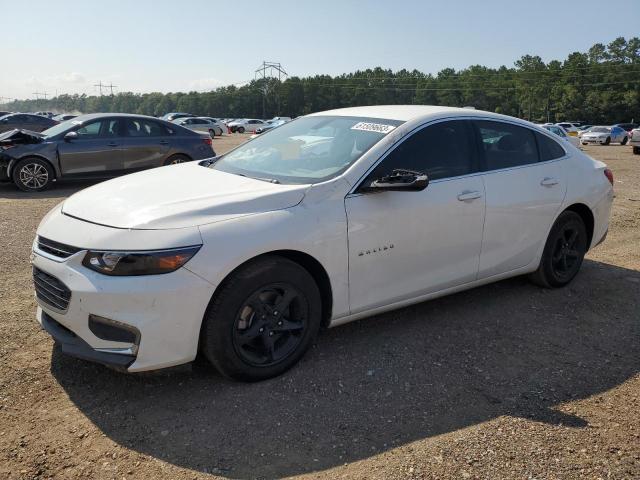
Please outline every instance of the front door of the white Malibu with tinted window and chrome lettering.
[[476, 279], [485, 199], [475, 152], [467, 121], [424, 127], [361, 185], [408, 169], [427, 173], [426, 189], [347, 196], [351, 313]]

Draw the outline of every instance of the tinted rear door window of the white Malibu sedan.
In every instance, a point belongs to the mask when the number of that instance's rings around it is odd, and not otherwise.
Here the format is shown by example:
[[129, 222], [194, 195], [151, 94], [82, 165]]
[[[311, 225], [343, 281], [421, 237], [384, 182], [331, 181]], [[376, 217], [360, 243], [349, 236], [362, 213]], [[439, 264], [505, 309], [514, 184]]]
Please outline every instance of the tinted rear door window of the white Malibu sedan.
[[510, 123], [476, 121], [487, 170], [519, 167], [538, 162], [534, 132]]

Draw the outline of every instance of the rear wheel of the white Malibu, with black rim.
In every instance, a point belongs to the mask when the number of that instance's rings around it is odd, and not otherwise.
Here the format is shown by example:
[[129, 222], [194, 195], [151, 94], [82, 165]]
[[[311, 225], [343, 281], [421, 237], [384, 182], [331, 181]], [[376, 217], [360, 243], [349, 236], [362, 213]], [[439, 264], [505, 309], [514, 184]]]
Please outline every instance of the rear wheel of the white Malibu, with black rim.
[[531, 280], [545, 288], [564, 287], [578, 274], [587, 248], [587, 229], [582, 217], [575, 212], [562, 212], [551, 227], [540, 265], [531, 274]]

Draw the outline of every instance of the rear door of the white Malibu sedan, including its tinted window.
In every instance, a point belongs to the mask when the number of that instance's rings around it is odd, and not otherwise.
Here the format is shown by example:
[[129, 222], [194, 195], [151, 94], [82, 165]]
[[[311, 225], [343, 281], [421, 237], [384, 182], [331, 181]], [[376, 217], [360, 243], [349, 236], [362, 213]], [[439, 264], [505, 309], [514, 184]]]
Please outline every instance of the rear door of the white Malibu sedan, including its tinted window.
[[479, 278], [529, 265], [567, 189], [565, 150], [551, 136], [507, 122], [475, 121], [486, 215]]

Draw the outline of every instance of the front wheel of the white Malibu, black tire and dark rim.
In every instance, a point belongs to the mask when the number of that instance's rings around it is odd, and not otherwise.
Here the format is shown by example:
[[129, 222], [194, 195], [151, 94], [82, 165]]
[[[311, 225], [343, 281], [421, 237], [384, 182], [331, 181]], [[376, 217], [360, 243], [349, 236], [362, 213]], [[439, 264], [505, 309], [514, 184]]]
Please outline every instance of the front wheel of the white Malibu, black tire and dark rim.
[[[286, 307], [279, 311], [278, 305]], [[307, 270], [279, 256], [262, 257], [232, 273], [216, 292], [200, 350], [226, 377], [266, 380], [302, 358], [318, 334], [321, 311], [320, 291]]]

